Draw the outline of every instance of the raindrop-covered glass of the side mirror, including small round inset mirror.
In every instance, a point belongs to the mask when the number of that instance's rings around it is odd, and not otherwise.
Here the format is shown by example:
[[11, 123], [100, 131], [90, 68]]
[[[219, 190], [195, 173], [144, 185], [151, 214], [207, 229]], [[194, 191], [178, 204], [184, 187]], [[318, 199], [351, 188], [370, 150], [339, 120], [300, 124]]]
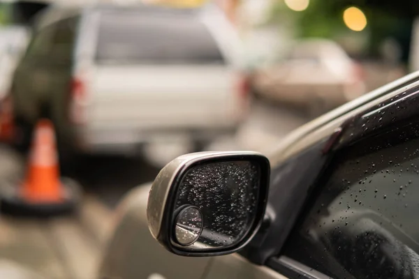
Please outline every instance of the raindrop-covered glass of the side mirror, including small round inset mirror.
[[245, 160], [191, 167], [177, 188], [172, 243], [210, 250], [240, 242], [256, 218], [259, 176], [258, 164]]

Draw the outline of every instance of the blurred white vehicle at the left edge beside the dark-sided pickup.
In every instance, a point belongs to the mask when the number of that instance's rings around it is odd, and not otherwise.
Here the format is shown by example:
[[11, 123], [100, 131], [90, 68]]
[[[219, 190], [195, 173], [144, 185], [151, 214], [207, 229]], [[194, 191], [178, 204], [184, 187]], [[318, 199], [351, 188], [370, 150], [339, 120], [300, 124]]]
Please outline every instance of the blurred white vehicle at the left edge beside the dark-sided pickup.
[[29, 40], [29, 31], [22, 26], [0, 28], [0, 98], [9, 91], [13, 71]]

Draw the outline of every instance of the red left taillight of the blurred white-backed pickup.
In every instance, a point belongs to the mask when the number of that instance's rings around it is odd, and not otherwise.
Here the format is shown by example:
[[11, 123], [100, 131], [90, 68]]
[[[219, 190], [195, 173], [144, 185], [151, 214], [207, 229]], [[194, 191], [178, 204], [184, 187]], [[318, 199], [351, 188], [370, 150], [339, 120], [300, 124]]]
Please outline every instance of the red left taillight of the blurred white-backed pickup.
[[84, 82], [78, 78], [73, 78], [71, 81], [70, 92], [70, 120], [76, 124], [85, 122], [85, 106], [86, 106], [86, 87]]

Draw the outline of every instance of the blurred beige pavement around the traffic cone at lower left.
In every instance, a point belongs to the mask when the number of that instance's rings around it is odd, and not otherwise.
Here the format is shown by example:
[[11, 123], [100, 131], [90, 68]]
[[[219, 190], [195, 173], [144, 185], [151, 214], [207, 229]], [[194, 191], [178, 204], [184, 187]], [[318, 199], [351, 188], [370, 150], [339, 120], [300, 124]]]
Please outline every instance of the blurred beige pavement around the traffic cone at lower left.
[[[24, 175], [24, 158], [5, 145], [0, 145], [0, 166], [0, 187], [1, 181]], [[112, 211], [89, 193], [73, 216], [0, 216], [0, 278], [95, 278], [111, 216]]]

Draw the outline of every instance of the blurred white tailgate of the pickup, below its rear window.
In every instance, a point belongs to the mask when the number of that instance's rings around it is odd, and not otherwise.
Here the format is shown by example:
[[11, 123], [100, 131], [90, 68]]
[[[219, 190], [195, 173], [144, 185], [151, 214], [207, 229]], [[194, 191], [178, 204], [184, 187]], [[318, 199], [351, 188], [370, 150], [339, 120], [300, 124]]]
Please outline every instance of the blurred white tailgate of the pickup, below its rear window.
[[101, 66], [88, 91], [89, 125], [205, 128], [237, 120], [234, 72], [226, 66]]

